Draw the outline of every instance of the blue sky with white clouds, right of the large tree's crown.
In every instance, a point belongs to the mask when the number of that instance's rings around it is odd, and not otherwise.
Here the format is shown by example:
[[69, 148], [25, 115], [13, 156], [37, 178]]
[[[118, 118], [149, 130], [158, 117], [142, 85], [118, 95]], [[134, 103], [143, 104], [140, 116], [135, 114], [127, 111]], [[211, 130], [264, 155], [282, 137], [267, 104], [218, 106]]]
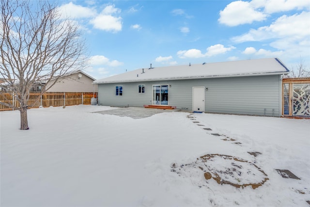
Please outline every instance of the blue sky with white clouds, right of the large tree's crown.
[[278, 57], [310, 66], [309, 0], [59, 1], [95, 79], [138, 68]]

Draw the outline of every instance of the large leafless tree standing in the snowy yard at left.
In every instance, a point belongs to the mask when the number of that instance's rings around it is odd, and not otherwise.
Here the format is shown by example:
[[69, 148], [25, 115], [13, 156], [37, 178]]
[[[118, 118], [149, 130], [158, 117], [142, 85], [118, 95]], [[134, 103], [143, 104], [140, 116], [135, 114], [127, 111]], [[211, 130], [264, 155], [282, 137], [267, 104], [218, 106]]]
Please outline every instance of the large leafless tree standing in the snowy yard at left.
[[[20, 129], [29, 129], [27, 109], [35, 104], [28, 105], [31, 88], [45, 83], [37, 102], [59, 78], [83, 69], [85, 41], [78, 26], [62, 19], [49, 1], [1, 0], [0, 45], [0, 79], [6, 82], [0, 104], [19, 110]], [[3, 93], [14, 96], [20, 107]]]

